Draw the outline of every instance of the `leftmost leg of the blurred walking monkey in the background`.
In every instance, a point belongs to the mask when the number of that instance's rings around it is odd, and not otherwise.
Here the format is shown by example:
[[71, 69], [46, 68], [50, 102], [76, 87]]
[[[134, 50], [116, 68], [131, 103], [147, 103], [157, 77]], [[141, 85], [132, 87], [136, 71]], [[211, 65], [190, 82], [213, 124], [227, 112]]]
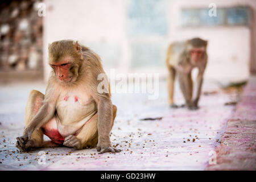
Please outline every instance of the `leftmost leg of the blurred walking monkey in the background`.
[[169, 76], [168, 76], [168, 95], [169, 95], [169, 104], [173, 108], [177, 108], [177, 105], [174, 104], [174, 83], [175, 83], [175, 69], [169, 67]]

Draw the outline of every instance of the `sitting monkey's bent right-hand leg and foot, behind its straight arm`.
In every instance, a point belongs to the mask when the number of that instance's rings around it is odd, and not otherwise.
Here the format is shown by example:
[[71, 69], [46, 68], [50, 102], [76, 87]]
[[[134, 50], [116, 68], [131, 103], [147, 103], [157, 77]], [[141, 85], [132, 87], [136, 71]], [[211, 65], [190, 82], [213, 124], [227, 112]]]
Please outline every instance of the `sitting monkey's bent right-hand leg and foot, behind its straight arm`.
[[[117, 107], [113, 105], [113, 123], [114, 118], [117, 114]], [[80, 150], [85, 147], [93, 147], [98, 143], [98, 114], [96, 113], [88, 122], [82, 127], [81, 131], [76, 135], [69, 135], [65, 138], [64, 145], [68, 147], [74, 147]], [[111, 127], [111, 129], [112, 129]], [[114, 148], [114, 151], [109, 152], [120, 152], [121, 150]]]

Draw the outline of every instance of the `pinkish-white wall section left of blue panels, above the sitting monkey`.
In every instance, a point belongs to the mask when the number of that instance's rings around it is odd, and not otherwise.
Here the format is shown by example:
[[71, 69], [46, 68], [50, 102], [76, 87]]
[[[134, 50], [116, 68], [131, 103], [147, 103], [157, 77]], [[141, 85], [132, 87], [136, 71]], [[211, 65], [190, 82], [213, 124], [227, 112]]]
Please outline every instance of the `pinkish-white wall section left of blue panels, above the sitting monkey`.
[[[45, 1], [47, 6], [44, 17], [44, 63], [47, 67], [48, 44], [56, 40], [72, 39], [88, 46], [94, 42], [105, 45], [117, 44], [120, 47], [116, 65], [120, 72], [127, 72], [129, 50], [127, 50], [125, 1], [84, 1], [55, 0]], [[98, 53], [98, 52], [97, 52]], [[100, 55], [101, 56], [101, 55]], [[102, 57], [104, 60], [104, 57]]]

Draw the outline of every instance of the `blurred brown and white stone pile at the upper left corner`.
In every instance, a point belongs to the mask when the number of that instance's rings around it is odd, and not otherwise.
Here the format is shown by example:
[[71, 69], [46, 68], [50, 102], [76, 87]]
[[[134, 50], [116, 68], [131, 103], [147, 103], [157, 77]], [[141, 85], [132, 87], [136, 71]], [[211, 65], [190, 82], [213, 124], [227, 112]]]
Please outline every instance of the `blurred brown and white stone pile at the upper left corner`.
[[9, 81], [43, 77], [40, 1], [0, 2], [0, 77]]

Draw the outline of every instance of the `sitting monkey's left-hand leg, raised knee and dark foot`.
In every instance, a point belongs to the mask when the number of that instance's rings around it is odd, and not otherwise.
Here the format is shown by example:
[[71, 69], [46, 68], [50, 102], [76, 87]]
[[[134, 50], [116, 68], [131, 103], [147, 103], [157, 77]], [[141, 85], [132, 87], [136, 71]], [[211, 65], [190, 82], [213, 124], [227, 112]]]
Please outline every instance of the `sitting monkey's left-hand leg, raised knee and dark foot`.
[[[30, 123], [31, 119], [38, 112], [40, 107], [43, 105], [44, 94], [38, 90], [32, 90], [28, 96], [28, 101], [25, 111], [25, 124], [26, 126]], [[56, 146], [52, 142], [43, 141], [43, 130], [42, 128], [33, 131], [31, 139], [25, 142], [22, 138], [18, 137], [16, 147], [21, 151], [30, 151], [31, 148]]]

